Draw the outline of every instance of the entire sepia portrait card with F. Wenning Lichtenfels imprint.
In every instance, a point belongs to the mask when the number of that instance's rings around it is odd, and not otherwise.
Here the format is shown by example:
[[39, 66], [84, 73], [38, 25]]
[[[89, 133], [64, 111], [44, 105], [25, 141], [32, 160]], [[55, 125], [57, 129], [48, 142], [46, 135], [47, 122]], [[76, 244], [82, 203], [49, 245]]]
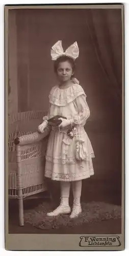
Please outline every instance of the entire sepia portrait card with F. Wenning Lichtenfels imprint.
[[5, 6], [7, 249], [124, 248], [123, 20], [122, 4]]

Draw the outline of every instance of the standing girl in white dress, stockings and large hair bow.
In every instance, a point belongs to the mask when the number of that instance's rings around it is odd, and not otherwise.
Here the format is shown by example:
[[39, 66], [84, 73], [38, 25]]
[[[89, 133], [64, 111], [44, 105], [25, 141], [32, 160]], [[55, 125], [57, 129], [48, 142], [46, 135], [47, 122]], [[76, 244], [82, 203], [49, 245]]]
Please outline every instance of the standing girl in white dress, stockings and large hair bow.
[[[90, 111], [86, 102], [86, 94], [79, 81], [74, 78], [75, 58], [79, 56], [77, 42], [63, 52], [62, 42], [58, 41], [51, 49], [54, 70], [59, 83], [49, 94], [49, 110], [39, 125], [43, 133], [48, 119], [56, 115], [62, 122], [59, 126], [51, 126], [46, 151], [45, 177], [60, 181], [60, 205], [47, 216], [70, 214], [70, 218], [78, 217], [81, 209], [82, 180], [94, 174], [92, 158], [94, 152], [90, 140], [84, 130]], [[72, 183], [73, 206], [69, 207], [69, 191]]]

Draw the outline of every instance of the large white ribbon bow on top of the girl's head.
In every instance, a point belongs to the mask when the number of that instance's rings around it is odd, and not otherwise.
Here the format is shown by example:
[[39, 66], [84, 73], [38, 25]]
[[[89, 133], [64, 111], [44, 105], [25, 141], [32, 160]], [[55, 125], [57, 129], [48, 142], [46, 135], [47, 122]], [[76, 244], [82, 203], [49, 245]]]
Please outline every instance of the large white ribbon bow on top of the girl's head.
[[56, 60], [59, 56], [66, 55], [72, 57], [74, 60], [79, 56], [79, 47], [77, 42], [75, 41], [71, 46], [67, 48], [64, 52], [62, 48], [62, 41], [59, 40], [56, 44], [51, 48], [51, 59]]

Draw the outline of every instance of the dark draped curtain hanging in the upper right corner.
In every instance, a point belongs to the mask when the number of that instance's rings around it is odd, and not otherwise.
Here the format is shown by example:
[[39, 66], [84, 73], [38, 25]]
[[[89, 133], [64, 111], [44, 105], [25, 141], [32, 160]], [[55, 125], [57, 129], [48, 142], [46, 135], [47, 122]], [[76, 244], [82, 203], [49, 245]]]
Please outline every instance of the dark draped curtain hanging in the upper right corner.
[[[90, 9], [86, 23], [95, 55], [108, 83], [108, 90], [120, 103], [122, 96], [121, 10]], [[111, 92], [110, 92], [111, 93]]]

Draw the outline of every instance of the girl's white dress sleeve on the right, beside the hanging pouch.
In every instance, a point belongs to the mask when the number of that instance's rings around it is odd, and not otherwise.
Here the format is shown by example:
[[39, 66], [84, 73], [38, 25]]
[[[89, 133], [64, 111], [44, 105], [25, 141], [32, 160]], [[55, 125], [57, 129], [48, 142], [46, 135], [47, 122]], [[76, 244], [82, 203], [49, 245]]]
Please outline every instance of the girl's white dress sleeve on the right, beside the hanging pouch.
[[76, 107], [78, 108], [78, 114], [75, 115], [71, 123], [72, 124], [82, 124], [85, 122], [90, 116], [89, 106], [86, 101], [86, 95], [80, 95], [75, 99]]

